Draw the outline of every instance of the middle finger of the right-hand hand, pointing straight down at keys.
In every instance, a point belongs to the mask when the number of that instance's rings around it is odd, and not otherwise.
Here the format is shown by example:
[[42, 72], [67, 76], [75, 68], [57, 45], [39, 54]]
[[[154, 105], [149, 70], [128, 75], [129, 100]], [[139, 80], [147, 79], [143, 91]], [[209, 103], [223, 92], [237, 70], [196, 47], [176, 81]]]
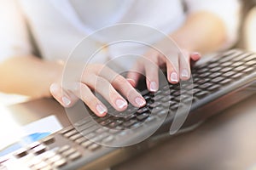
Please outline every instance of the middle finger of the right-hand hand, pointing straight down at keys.
[[169, 82], [173, 84], [176, 84], [177, 82], [179, 82], [178, 54], [176, 55], [177, 56], [172, 56], [172, 60], [169, 58], [166, 58], [167, 79]]

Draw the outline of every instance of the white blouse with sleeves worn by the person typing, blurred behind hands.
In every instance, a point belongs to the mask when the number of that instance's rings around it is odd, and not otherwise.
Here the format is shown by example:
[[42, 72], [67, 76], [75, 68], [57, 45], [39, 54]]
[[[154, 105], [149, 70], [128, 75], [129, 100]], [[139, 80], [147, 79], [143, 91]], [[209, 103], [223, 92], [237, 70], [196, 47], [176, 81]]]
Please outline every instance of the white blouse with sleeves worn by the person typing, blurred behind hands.
[[[183, 3], [187, 6], [187, 13], [183, 10]], [[32, 54], [29, 35], [44, 59], [65, 60], [84, 37], [106, 26], [135, 23], [170, 34], [183, 25], [187, 14], [200, 10], [217, 14], [224, 21], [228, 32], [224, 48], [236, 42], [238, 0], [2, 0], [0, 60]], [[108, 39], [104, 36], [95, 37], [93, 41], [99, 46], [106, 42]], [[134, 44], [131, 46], [137, 48]], [[102, 54], [101, 59], [119, 56], [125, 50], [126, 46], [113, 45], [105, 50], [108, 53]]]

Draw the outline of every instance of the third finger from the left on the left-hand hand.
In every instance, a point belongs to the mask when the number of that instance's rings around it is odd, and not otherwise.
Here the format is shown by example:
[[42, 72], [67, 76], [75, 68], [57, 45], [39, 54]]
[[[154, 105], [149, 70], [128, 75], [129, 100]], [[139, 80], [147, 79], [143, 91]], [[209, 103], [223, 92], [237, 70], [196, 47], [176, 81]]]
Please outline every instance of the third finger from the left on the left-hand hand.
[[107, 99], [110, 105], [117, 111], [125, 111], [127, 101], [113, 88], [113, 86], [103, 77], [89, 75], [84, 83], [90, 88], [101, 94], [104, 99]]

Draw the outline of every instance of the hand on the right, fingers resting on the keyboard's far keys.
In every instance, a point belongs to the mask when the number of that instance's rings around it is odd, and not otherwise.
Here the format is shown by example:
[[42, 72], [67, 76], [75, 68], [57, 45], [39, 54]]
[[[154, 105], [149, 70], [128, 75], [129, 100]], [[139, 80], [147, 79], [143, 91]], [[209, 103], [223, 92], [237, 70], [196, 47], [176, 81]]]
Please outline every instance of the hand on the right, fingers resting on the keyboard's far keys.
[[132, 71], [128, 72], [127, 80], [131, 82], [133, 87], [136, 87], [141, 76], [140, 73], [145, 73], [148, 90], [155, 92], [159, 88], [158, 70], [162, 67], [166, 67], [168, 82], [175, 84], [179, 80], [188, 80], [191, 74], [190, 63], [199, 60], [201, 54], [190, 53], [185, 49], [182, 49], [181, 53], [177, 53], [176, 51], [167, 49], [165, 54], [172, 56], [171, 59], [167, 59], [159, 51], [150, 49], [144, 54], [144, 58], [137, 59]]

